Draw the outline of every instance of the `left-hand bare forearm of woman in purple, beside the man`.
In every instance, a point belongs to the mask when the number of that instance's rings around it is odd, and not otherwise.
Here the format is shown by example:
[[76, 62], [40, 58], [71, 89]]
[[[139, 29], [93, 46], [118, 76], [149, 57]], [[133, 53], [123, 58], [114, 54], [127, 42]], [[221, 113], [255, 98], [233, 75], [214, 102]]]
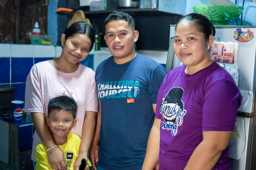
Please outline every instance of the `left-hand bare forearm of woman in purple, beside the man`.
[[147, 141], [146, 156], [142, 170], [153, 170], [158, 163], [161, 119], [155, 118]]

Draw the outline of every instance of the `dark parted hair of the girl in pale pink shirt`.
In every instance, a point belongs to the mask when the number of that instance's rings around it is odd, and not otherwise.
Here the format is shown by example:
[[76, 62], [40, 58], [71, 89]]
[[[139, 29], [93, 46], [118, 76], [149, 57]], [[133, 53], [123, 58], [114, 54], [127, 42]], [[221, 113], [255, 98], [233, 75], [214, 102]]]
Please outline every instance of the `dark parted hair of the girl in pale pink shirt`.
[[93, 49], [95, 34], [93, 28], [91, 28], [91, 26], [87, 23], [81, 21], [75, 22], [69, 28], [67, 28], [63, 34], [65, 34], [65, 41], [68, 39], [68, 37], [72, 37], [75, 34], [86, 34], [91, 40], [90, 51]]

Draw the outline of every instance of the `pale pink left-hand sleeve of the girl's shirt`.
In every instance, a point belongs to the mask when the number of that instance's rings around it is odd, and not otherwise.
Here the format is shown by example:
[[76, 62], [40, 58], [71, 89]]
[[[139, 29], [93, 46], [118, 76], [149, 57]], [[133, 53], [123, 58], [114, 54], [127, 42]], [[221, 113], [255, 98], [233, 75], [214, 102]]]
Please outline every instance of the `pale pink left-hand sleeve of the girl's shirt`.
[[38, 78], [37, 67], [35, 66], [31, 68], [26, 81], [25, 112], [44, 113], [41, 85]]

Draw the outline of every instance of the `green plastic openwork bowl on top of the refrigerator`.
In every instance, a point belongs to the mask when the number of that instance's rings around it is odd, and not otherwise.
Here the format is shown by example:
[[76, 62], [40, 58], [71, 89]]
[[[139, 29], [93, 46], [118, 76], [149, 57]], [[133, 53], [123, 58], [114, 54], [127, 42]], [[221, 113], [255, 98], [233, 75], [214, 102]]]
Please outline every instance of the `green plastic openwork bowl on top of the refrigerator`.
[[228, 25], [229, 21], [237, 19], [242, 14], [244, 7], [194, 5], [193, 10], [206, 16], [214, 25]]

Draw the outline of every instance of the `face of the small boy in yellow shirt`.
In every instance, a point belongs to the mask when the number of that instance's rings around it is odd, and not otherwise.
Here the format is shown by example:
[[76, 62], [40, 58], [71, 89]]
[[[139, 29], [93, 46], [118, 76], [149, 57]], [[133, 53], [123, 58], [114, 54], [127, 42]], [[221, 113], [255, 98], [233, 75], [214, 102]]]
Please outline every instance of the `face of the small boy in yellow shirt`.
[[46, 122], [54, 136], [64, 137], [75, 126], [76, 119], [70, 111], [53, 110]]

